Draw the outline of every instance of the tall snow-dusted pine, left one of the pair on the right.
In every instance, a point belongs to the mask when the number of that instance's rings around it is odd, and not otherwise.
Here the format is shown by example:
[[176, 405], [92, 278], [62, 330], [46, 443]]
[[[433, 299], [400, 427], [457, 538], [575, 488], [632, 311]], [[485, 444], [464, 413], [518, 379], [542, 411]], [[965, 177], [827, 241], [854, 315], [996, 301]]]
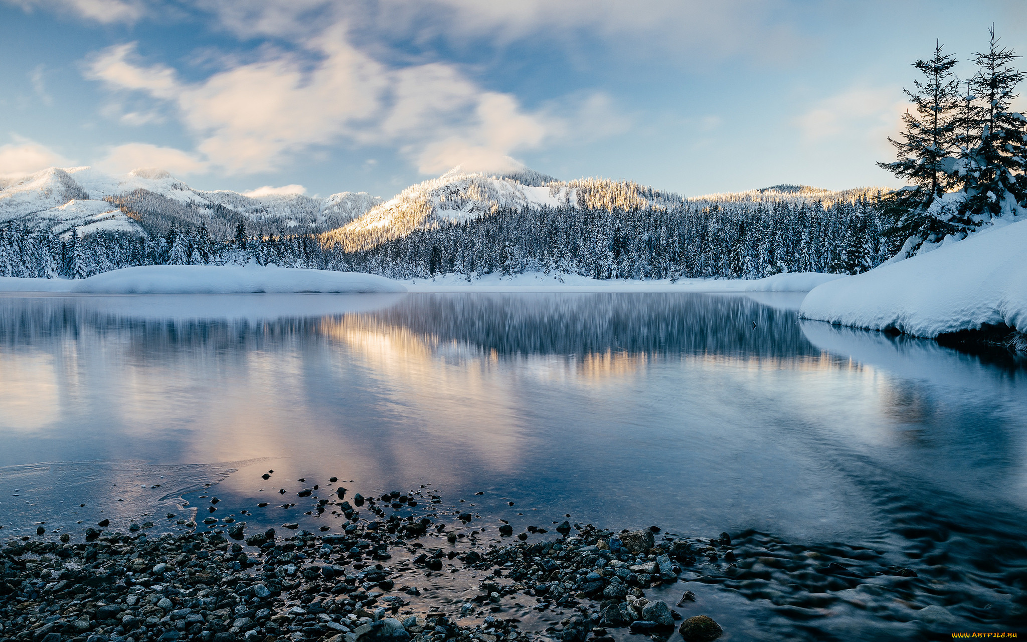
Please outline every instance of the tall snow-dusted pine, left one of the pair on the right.
[[953, 219], [953, 207], [936, 202], [953, 186], [955, 174], [955, 130], [959, 116], [959, 85], [952, 73], [956, 60], [936, 44], [930, 59], [913, 63], [924, 79], [913, 81], [913, 89], [903, 91], [913, 103], [914, 113], [903, 117], [906, 129], [900, 140], [888, 138], [897, 160], [877, 163], [911, 187], [892, 192], [884, 199], [891, 219], [888, 233], [904, 239], [906, 256], [912, 256], [924, 241], [941, 240], [946, 234], [962, 231]]

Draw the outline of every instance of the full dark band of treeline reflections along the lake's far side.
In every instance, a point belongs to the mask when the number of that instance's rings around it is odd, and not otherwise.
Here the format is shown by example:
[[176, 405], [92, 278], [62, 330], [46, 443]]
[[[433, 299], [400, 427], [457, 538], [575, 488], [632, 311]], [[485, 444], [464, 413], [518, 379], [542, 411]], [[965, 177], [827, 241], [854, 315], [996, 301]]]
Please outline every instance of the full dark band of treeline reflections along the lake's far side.
[[369, 312], [268, 320], [132, 316], [76, 299], [10, 298], [0, 299], [0, 346], [43, 347], [92, 335], [116, 340], [142, 357], [188, 349], [260, 350], [322, 337], [326, 318], [334, 327], [402, 330], [428, 345], [455, 341], [500, 356], [820, 355], [794, 312], [747, 297], [687, 294], [408, 295]]

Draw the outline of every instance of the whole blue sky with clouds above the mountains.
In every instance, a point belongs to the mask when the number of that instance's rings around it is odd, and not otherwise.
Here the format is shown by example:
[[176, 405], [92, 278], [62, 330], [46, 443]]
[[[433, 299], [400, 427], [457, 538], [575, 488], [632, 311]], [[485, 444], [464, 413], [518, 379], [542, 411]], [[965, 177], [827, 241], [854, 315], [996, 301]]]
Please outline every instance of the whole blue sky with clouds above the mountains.
[[897, 187], [875, 161], [912, 63], [939, 40], [966, 77], [992, 25], [1027, 52], [1021, 0], [0, 0], [0, 178], [387, 198], [515, 159], [689, 196]]

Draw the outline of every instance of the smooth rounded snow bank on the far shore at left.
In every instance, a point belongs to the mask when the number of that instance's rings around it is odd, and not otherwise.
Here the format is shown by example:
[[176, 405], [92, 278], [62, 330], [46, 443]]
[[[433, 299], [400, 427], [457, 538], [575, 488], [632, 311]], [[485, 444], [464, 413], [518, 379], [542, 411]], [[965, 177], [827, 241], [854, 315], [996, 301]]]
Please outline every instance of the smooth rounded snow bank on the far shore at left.
[[406, 292], [403, 284], [358, 272], [248, 265], [150, 265], [81, 280], [0, 277], [0, 292], [69, 294], [293, 294]]

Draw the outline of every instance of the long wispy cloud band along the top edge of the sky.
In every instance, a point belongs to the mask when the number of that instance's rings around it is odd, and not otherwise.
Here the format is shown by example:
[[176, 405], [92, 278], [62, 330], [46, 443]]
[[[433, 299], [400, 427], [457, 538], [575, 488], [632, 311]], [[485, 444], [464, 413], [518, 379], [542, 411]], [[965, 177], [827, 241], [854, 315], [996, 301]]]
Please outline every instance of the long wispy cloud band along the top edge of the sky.
[[765, 65], [808, 54], [810, 39], [799, 35], [795, 23], [811, 20], [819, 10], [808, 3], [796, 10], [793, 0], [221, 0], [196, 5], [245, 38], [298, 41], [319, 25], [347, 23], [386, 41], [443, 40], [456, 49], [541, 38], [573, 56], [581, 38], [592, 37], [620, 59], [658, 54], [703, 69], [725, 58]]

